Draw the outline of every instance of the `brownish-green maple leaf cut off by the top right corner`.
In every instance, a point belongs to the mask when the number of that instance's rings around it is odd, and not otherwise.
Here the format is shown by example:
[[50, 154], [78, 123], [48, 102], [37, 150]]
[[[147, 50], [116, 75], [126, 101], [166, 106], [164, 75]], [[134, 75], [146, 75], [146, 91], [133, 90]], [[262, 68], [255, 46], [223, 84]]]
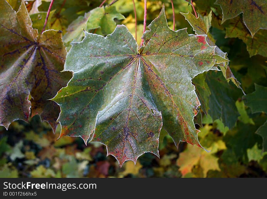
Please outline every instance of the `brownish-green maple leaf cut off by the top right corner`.
[[267, 4], [265, 0], [217, 0], [223, 13], [222, 23], [243, 13], [244, 24], [252, 37], [259, 29], [267, 29]]

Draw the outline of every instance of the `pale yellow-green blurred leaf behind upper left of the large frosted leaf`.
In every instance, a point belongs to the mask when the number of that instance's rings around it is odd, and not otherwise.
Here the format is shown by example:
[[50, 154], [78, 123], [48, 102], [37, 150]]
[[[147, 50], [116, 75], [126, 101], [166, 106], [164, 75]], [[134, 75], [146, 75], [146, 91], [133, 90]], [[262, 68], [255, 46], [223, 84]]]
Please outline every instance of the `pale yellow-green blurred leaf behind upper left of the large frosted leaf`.
[[83, 30], [88, 32], [96, 28], [101, 28], [97, 32], [99, 35], [111, 34], [116, 28], [115, 18], [118, 20], [125, 19], [122, 14], [117, 12], [114, 6], [94, 8], [90, 12], [85, 13], [84, 17], [79, 16], [68, 26], [63, 41], [65, 43], [81, 41], [84, 36]]

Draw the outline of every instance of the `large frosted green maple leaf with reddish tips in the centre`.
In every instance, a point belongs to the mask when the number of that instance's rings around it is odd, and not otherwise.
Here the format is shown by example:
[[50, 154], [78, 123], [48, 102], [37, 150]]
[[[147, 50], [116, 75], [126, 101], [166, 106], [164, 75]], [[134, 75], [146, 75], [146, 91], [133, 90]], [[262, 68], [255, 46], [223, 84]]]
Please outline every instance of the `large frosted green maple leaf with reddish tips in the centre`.
[[61, 135], [87, 143], [93, 133], [91, 141], [105, 144], [120, 165], [144, 152], [159, 156], [162, 123], [177, 147], [180, 141], [201, 147], [193, 122], [200, 103], [191, 80], [228, 61], [215, 55], [206, 35], [172, 31], [164, 8], [148, 28], [139, 50], [124, 25], [106, 37], [86, 32], [66, 58], [73, 78], [53, 98], [61, 107]]

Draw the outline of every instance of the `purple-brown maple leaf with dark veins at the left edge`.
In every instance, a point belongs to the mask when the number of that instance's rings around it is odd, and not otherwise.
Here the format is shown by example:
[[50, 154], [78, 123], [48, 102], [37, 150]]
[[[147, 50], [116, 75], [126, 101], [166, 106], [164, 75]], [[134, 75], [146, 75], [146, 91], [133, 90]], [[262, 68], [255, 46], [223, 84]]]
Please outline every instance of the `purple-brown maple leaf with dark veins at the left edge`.
[[38, 34], [23, 1], [18, 12], [6, 1], [0, 1], [0, 9], [0, 125], [8, 128], [12, 121], [28, 121], [31, 108], [32, 116], [39, 114], [55, 131], [60, 109], [47, 99], [71, 77], [59, 72], [66, 56], [62, 34]]

